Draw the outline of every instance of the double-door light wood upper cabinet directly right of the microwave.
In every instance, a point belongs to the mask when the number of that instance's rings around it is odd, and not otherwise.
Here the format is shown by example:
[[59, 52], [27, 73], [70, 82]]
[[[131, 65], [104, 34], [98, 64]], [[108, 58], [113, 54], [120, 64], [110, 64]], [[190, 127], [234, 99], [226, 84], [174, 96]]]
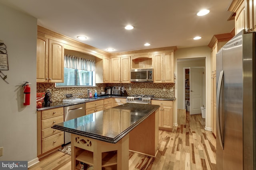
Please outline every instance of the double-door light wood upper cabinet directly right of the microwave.
[[153, 54], [154, 83], [174, 83], [174, 53]]

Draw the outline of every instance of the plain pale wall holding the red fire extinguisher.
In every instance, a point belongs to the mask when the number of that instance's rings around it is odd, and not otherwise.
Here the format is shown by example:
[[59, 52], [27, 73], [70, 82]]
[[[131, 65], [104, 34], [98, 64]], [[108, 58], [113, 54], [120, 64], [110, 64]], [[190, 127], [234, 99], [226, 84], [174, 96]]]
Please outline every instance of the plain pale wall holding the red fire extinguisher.
[[[37, 19], [0, 4], [0, 39], [7, 46], [6, 84], [0, 78], [0, 160], [37, 161], [36, 36]], [[23, 106], [24, 81], [30, 82], [30, 105]]]

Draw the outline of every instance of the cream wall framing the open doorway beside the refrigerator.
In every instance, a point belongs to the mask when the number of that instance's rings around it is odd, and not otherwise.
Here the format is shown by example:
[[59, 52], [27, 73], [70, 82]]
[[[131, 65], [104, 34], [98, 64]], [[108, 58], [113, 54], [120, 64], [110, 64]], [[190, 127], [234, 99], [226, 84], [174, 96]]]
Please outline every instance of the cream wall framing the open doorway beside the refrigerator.
[[[211, 49], [208, 46], [202, 46], [202, 47], [191, 47], [191, 48], [183, 48], [183, 49], [177, 49], [175, 51], [174, 55], [174, 71], [177, 73], [177, 59], [188, 59], [188, 58], [198, 58], [198, 57], [206, 57], [206, 129], [211, 130], [211, 115], [207, 114], [211, 111]], [[175, 105], [176, 108], [178, 107], [178, 98], [179, 97], [179, 91], [180, 88], [183, 89], [183, 84], [178, 84], [180, 81], [179, 79], [182, 79], [183, 76], [178, 76], [176, 78], [176, 86], [175, 86], [175, 97], [177, 98]], [[180, 105], [179, 105], [180, 106]], [[174, 122], [177, 123], [177, 109], [174, 110]]]

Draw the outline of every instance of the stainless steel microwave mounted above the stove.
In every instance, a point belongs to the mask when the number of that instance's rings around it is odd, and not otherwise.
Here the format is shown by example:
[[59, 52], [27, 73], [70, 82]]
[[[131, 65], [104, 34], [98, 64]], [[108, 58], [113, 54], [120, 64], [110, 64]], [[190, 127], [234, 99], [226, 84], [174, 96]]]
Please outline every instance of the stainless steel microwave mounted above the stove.
[[153, 68], [131, 70], [131, 82], [152, 82], [152, 81], [153, 81]]

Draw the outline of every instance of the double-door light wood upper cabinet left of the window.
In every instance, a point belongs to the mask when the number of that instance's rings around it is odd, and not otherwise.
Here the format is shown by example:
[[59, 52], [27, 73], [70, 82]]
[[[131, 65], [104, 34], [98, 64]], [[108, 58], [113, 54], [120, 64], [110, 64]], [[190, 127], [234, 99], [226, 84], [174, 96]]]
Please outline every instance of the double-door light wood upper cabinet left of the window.
[[36, 82], [64, 81], [64, 44], [38, 35]]

